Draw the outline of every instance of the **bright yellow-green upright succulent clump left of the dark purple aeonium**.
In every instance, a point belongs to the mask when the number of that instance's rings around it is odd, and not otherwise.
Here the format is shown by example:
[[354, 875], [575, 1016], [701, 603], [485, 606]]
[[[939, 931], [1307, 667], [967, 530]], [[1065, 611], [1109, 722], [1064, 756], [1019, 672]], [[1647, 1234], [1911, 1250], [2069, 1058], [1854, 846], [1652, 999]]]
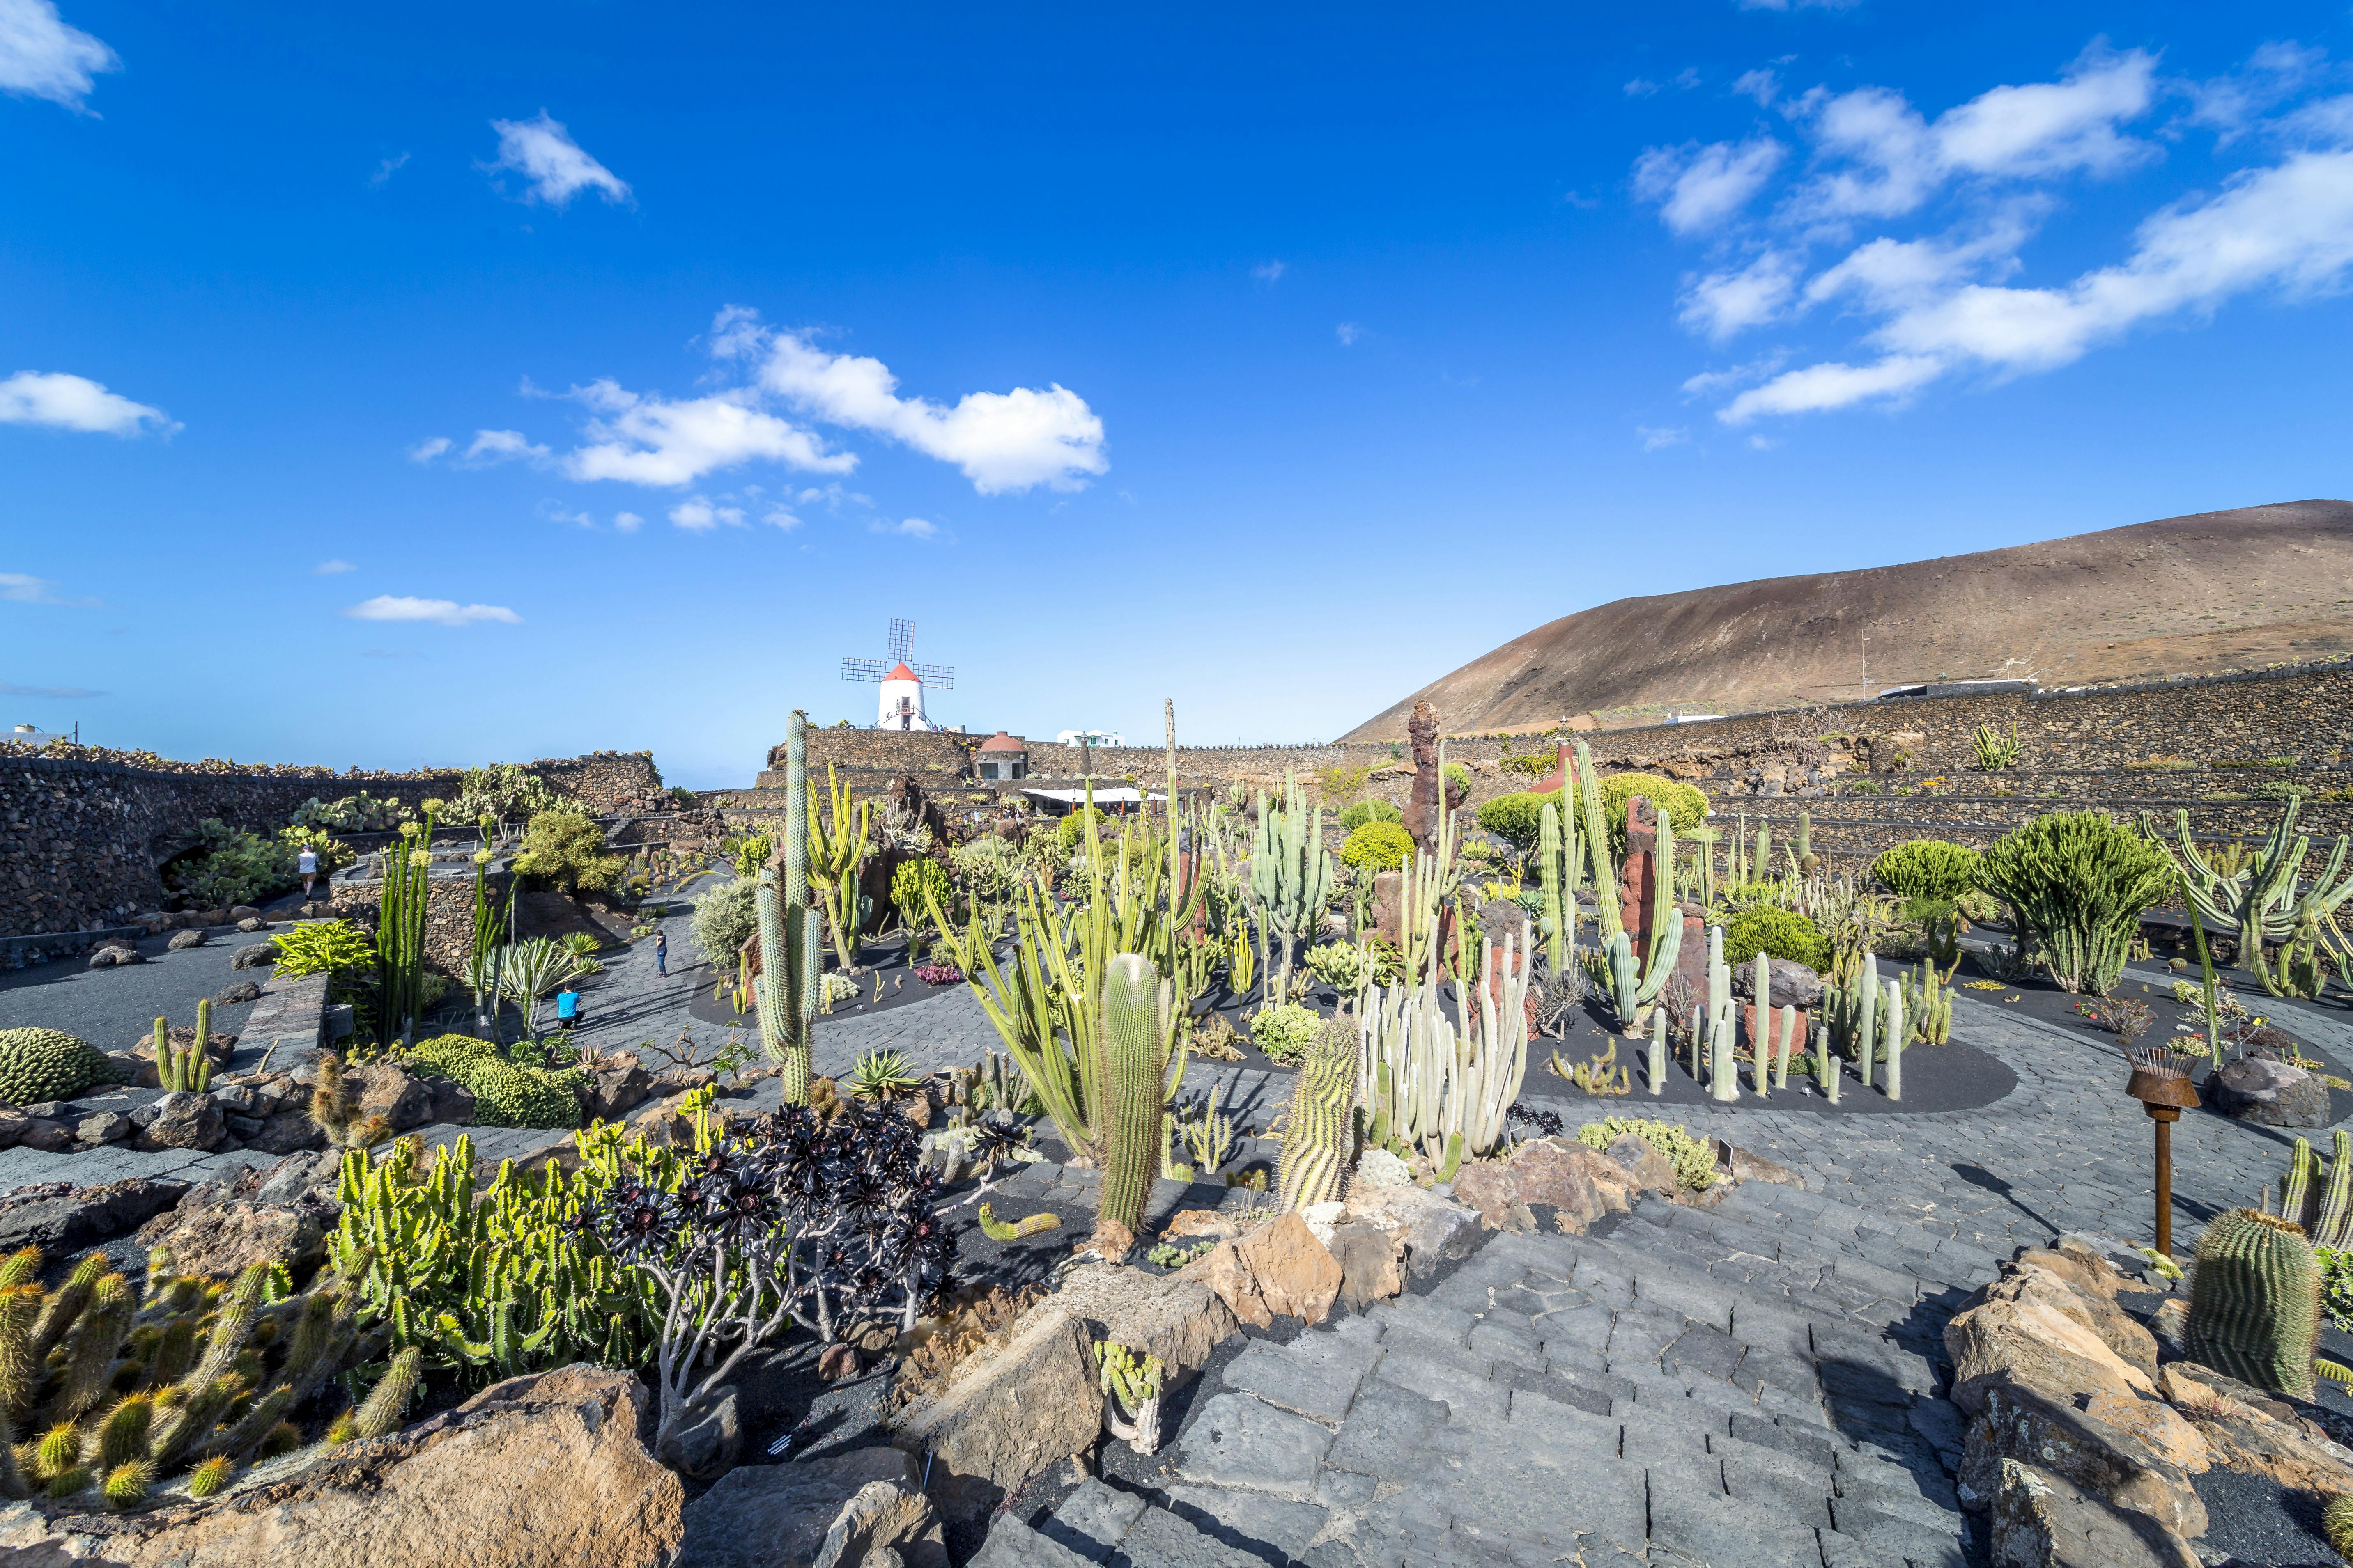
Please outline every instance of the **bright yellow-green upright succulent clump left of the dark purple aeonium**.
[[619, 1145], [619, 1128], [584, 1133], [579, 1175], [567, 1180], [553, 1159], [536, 1178], [501, 1161], [480, 1192], [471, 1138], [435, 1147], [424, 1168], [414, 1138], [381, 1159], [344, 1154], [327, 1255], [360, 1281], [360, 1326], [480, 1380], [567, 1361], [635, 1366], [661, 1307], [640, 1274], [576, 1229], [614, 1180]]

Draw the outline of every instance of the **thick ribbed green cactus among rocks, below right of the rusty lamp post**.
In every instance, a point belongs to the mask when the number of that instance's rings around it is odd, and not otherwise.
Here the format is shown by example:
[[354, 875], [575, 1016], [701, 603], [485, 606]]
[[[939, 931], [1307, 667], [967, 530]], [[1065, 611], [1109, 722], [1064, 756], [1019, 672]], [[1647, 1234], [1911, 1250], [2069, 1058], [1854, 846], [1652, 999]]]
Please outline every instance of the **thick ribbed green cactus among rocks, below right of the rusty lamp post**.
[[2214, 1218], [2191, 1274], [2191, 1359], [2306, 1399], [2318, 1335], [2320, 1265], [2304, 1227], [2252, 1208]]

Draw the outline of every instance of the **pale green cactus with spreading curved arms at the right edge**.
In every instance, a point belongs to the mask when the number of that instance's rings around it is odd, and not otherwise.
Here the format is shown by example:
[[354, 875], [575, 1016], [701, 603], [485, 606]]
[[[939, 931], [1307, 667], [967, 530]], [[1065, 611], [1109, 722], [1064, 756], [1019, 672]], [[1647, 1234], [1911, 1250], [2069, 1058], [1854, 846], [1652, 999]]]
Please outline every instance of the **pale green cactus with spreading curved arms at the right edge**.
[[[2339, 835], [2327, 870], [2306, 886], [2304, 856], [2311, 849], [2311, 837], [2297, 835], [2297, 811], [2301, 809], [2301, 797], [2289, 799], [2280, 825], [2271, 830], [2264, 846], [2231, 875], [2224, 875], [2191, 842], [2188, 811], [2174, 811], [2179, 853], [2158, 837], [2146, 818], [2141, 823], [2151, 842], [2165, 851], [2191, 907], [2200, 917], [2238, 931], [2238, 961], [2254, 969], [2273, 997], [2318, 997], [2327, 983], [2329, 961], [2353, 987], [2353, 938], [2346, 938], [2337, 922], [2337, 910], [2353, 898], [2353, 872], [2339, 875], [2346, 870], [2346, 849], [2353, 839]], [[2278, 947], [2278, 959], [2264, 957], [2266, 943]]]

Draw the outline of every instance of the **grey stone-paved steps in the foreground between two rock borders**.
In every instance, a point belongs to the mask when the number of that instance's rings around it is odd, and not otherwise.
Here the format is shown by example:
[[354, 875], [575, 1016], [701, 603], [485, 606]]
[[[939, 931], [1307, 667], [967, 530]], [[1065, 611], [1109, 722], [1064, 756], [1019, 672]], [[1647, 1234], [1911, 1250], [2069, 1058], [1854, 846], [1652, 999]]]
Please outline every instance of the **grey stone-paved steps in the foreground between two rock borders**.
[[1428, 1295], [1247, 1345], [1162, 1493], [1089, 1481], [974, 1561], [1962, 1568], [1925, 1326], [1967, 1260], [1769, 1192], [1494, 1237]]

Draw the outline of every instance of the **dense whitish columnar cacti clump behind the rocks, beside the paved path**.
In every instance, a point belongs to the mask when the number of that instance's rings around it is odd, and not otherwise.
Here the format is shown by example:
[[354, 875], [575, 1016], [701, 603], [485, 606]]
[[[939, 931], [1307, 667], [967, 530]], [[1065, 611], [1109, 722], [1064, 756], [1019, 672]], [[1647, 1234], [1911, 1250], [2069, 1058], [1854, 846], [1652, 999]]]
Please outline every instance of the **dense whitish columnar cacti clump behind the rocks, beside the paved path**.
[[1372, 987], [1358, 1018], [1367, 1145], [1421, 1150], [1452, 1180], [1464, 1154], [1504, 1143], [1527, 1079], [1527, 969], [1511, 938], [1482, 938], [1475, 973], [1492, 980], [1457, 987], [1452, 1018], [1435, 978]]

